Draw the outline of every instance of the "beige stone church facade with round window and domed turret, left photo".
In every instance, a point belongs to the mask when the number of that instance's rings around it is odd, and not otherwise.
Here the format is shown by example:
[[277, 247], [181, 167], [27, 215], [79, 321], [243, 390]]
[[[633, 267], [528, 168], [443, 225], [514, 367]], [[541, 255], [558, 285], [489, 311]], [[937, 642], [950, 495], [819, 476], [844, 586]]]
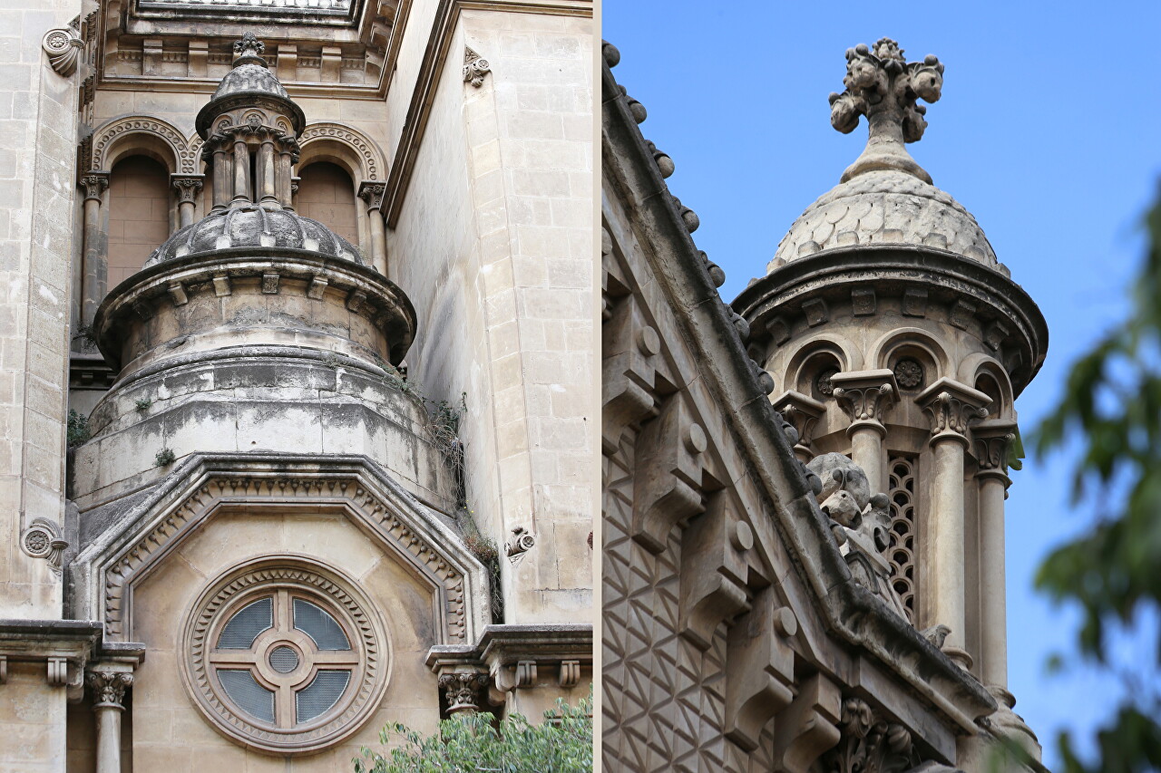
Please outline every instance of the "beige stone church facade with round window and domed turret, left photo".
[[587, 694], [592, 10], [0, 9], [0, 770]]

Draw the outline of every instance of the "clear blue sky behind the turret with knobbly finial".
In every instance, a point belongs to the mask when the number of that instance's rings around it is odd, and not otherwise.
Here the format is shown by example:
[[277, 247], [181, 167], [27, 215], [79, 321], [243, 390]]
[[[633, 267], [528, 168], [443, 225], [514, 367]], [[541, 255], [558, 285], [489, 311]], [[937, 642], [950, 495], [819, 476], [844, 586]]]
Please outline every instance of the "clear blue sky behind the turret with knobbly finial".
[[[1048, 320], [1047, 362], [1017, 400], [1025, 436], [1068, 364], [1124, 313], [1161, 176], [1161, 3], [605, 0], [603, 24], [621, 51], [618, 81], [649, 111], [646, 137], [677, 165], [670, 189], [701, 218], [694, 239], [726, 270], [726, 299], [863, 150], [865, 122], [831, 129], [827, 95], [843, 91], [848, 48], [889, 36], [908, 59], [946, 65], [911, 154]], [[1075, 616], [1032, 577], [1091, 516], [1069, 505], [1067, 462], [1029, 460], [1007, 510], [1010, 686], [1050, 766], [1057, 730], [1091, 730], [1118, 689], [1044, 667], [1067, 653]]]

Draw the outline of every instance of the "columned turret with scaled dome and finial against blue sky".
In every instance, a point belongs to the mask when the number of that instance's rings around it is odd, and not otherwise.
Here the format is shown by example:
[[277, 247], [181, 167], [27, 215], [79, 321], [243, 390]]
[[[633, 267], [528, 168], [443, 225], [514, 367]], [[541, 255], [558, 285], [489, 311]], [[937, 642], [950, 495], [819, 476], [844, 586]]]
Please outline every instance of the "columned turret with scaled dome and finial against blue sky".
[[845, 133], [866, 117], [866, 150], [733, 306], [799, 456], [849, 455], [888, 494], [885, 554], [913, 624], [1010, 703], [1004, 491], [1014, 400], [1044, 362], [1047, 327], [975, 218], [907, 150], [943, 73], [887, 38], [848, 50], [831, 123]]

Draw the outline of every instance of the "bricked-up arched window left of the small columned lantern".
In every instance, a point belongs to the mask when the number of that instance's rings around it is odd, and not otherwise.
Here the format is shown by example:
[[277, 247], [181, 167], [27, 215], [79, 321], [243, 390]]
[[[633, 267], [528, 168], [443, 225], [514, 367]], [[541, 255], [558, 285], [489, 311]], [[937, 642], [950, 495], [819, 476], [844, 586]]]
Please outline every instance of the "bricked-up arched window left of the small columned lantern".
[[170, 174], [144, 156], [117, 161], [109, 176], [108, 289], [140, 270], [170, 238]]

